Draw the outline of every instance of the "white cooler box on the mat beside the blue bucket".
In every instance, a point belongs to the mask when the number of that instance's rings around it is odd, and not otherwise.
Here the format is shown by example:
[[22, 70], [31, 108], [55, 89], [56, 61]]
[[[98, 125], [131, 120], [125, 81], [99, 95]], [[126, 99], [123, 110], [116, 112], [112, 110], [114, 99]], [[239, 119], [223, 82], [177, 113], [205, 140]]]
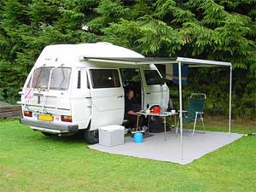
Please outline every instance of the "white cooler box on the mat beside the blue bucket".
[[108, 125], [99, 127], [99, 143], [105, 146], [124, 144], [125, 127], [122, 125]]

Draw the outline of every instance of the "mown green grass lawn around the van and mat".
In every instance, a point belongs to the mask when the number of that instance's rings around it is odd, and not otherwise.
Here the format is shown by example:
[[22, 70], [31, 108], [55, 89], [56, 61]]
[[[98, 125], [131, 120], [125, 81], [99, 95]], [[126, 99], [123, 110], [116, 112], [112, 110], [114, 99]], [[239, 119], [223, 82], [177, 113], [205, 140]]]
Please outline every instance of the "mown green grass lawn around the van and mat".
[[[222, 123], [207, 119], [211, 130]], [[254, 124], [234, 125], [255, 132]], [[224, 122], [226, 126], [226, 123]], [[225, 129], [226, 130], [226, 129]], [[18, 120], [0, 122], [1, 191], [255, 191], [256, 137], [242, 137], [192, 164], [86, 148], [79, 137], [44, 137]]]

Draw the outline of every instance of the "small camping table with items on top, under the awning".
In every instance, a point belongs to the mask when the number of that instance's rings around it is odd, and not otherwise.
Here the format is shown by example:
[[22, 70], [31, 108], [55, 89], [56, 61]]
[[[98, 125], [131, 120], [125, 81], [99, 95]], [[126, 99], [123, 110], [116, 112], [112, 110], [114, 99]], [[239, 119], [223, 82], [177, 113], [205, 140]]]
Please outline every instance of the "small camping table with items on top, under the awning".
[[[171, 112], [161, 112], [161, 113], [137, 112], [137, 127], [136, 127], [136, 131], [138, 129], [138, 123], [139, 123], [139, 119], [140, 119], [141, 115], [144, 115], [144, 116], [157, 116], [157, 117], [160, 117], [160, 118], [164, 119], [164, 123], [165, 123], [165, 140], [166, 140], [166, 118], [174, 116], [175, 117], [175, 125], [176, 125], [176, 115], [177, 114], [178, 113], [171, 113]], [[150, 119], [148, 119], [148, 130], [149, 130], [149, 125], [150, 125]]]

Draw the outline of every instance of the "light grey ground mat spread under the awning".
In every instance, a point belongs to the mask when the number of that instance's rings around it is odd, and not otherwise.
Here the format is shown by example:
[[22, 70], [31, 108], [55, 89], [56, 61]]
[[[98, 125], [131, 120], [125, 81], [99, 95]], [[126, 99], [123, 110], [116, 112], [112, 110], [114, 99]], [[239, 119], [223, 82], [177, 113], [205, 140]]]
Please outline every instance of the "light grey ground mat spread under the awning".
[[205, 134], [201, 131], [195, 131], [194, 137], [191, 137], [191, 132], [184, 130], [182, 160], [179, 134], [176, 136], [175, 132], [168, 131], [166, 141], [164, 133], [154, 133], [153, 135], [154, 137], [144, 138], [143, 143], [133, 143], [131, 137], [125, 137], [125, 144], [123, 145], [106, 147], [94, 144], [88, 147], [109, 154], [123, 154], [185, 165], [242, 137], [242, 134], [218, 131], [206, 131]]

